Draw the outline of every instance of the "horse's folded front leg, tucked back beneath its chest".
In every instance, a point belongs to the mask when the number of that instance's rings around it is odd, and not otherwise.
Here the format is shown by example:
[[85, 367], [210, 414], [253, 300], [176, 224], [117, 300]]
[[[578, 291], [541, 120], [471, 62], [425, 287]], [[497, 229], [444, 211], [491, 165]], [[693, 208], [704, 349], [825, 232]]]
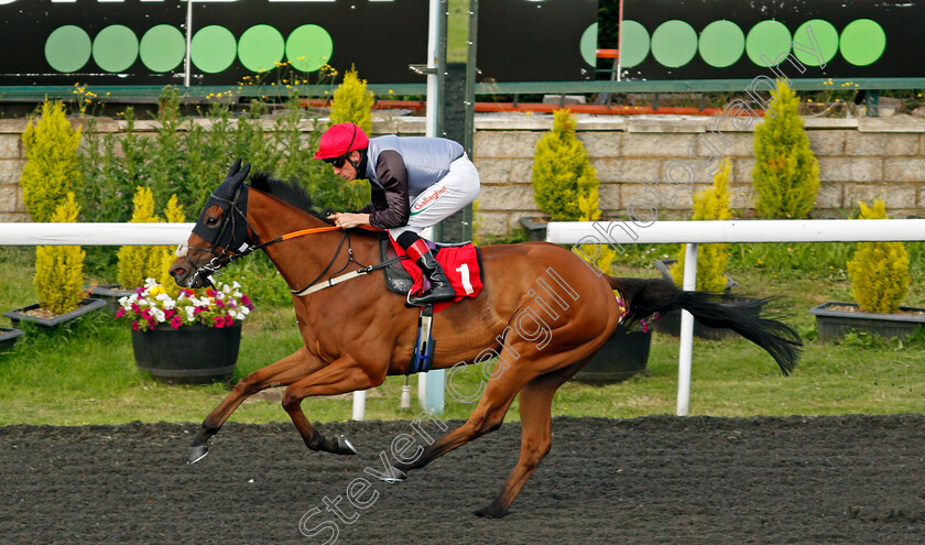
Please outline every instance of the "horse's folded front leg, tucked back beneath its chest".
[[378, 386], [385, 380], [387, 368], [388, 364], [382, 369], [364, 368], [350, 356], [344, 356], [311, 377], [290, 385], [283, 394], [283, 408], [302, 434], [305, 446], [326, 453], [357, 454], [344, 436], [329, 439], [319, 434], [302, 412], [302, 400], [312, 395], [337, 395]]

